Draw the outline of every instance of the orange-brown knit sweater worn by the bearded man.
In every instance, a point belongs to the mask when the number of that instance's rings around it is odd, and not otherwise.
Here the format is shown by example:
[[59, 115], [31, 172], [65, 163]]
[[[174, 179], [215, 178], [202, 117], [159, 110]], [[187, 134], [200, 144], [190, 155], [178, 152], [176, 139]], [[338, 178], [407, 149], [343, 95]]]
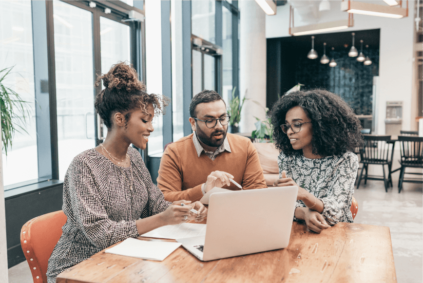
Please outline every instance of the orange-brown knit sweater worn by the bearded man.
[[[204, 152], [195, 151], [192, 134], [170, 144], [160, 161], [157, 186], [167, 201], [198, 201], [203, 197], [201, 186], [212, 171], [230, 173], [243, 189], [267, 188], [257, 151], [249, 138], [227, 134], [231, 152], [223, 151], [212, 161]], [[225, 189], [238, 190], [234, 184]]]

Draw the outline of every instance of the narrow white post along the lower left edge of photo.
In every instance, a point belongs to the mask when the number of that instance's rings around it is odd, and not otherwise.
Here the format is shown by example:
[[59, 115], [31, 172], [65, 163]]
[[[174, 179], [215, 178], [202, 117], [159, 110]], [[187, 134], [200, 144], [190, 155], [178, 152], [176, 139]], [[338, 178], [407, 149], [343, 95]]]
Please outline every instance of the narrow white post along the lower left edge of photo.
[[[1, 132], [1, 123], [0, 123]], [[6, 213], [4, 211], [3, 160], [0, 154], [0, 282], [9, 282], [7, 270]]]

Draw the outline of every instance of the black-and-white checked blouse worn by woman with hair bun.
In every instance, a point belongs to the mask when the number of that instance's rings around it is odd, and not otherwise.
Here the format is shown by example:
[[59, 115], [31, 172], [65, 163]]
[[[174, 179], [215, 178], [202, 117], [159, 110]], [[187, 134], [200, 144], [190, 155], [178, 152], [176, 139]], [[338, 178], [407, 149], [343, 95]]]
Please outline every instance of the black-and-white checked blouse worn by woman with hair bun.
[[128, 154], [128, 168], [115, 165], [95, 149], [72, 161], [63, 183], [63, 212], [68, 220], [48, 262], [48, 283], [102, 249], [139, 236], [135, 221], [171, 204], [153, 184], [138, 151], [130, 147]]

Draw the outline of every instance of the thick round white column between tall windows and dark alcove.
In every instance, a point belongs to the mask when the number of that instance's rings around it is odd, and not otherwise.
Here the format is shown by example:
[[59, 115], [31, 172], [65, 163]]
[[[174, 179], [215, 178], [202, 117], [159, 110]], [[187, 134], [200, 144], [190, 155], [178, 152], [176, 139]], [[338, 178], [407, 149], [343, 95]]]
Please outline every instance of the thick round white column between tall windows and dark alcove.
[[256, 1], [238, 1], [240, 5], [240, 77], [239, 95], [246, 100], [241, 111], [239, 132], [255, 130], [254, 118], [265, 119], [266, 113], [266, 14]]

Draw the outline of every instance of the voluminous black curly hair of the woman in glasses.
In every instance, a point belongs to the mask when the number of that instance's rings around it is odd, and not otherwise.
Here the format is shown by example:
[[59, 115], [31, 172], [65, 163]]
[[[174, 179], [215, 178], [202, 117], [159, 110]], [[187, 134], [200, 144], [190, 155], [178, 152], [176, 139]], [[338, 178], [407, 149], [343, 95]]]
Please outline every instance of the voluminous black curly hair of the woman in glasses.
[[273, 140], [276, 148], [287, 155], [302, 154], [294, 150], [288, 135], [280, 125], [285, 124], [289, 109], [300, 106], [311, 119], [312, 152], [320, 156], [340, 155], [354, 151], [363, 142], [360, 120], [346, 102], [326, 90], [313, 89], [285, 94], [273, 105], [270, 112]]

